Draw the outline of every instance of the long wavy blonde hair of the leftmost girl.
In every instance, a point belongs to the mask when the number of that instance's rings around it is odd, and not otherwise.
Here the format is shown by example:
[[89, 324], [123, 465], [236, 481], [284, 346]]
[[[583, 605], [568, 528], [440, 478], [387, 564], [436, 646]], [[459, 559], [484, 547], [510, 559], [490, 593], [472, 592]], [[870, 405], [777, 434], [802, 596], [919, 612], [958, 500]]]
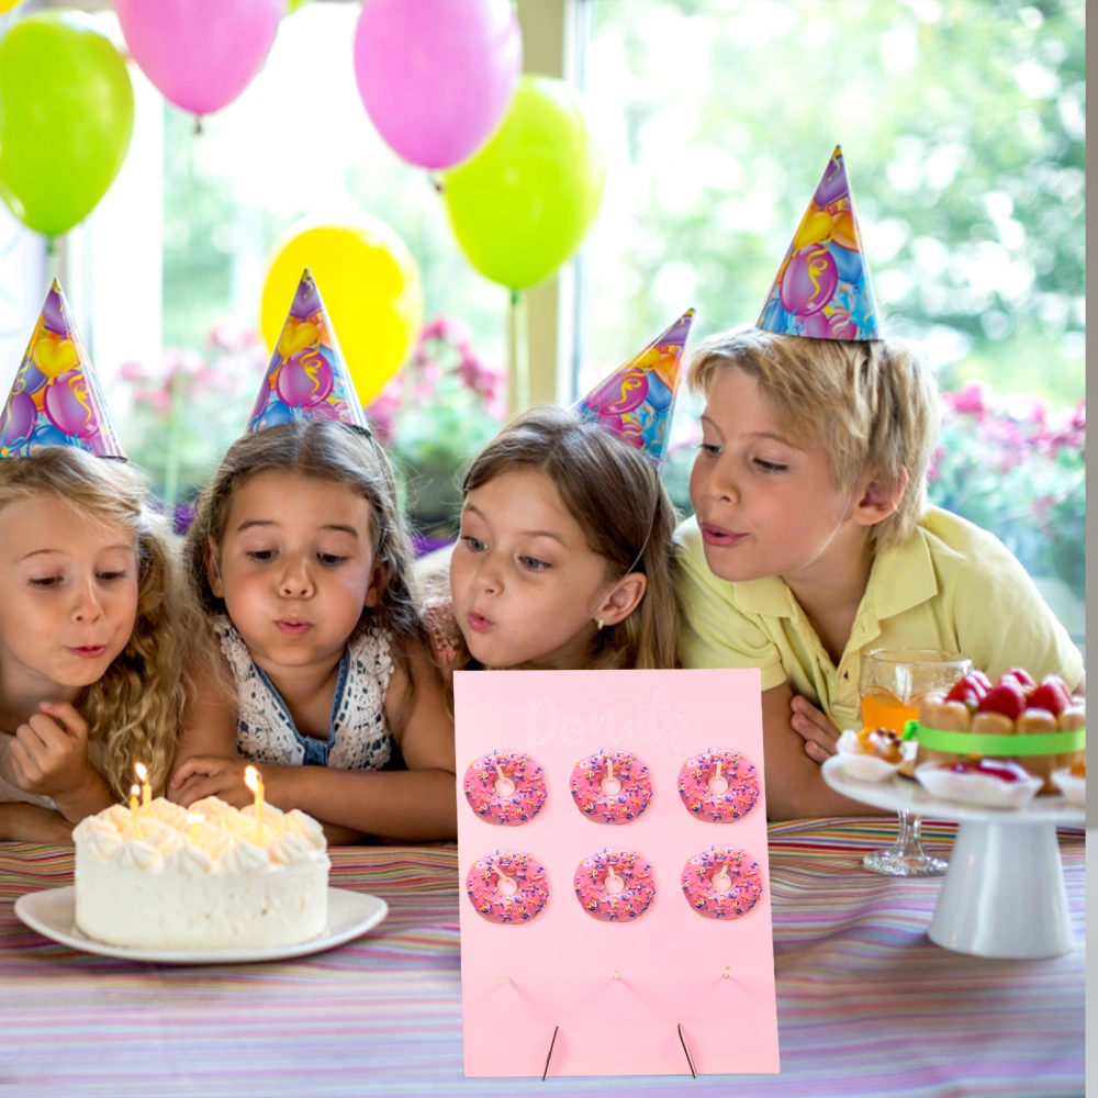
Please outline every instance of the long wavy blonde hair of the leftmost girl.
[[143, 762], [163, 789], [176, 750], [199, 620], [187, 592], [173, 536], [149, 511], [138, 473], [120, 461], [75, 446], [51, 446], [29, 458], [0, 461], [0, 509], [51, 493], [81, 515], [128, 530], [137, 547], [137, 615], [133, 634], [99, 682], [85, 687], [77, 708], [89, 741], [103, 746], [111, 792], [124, 799]]

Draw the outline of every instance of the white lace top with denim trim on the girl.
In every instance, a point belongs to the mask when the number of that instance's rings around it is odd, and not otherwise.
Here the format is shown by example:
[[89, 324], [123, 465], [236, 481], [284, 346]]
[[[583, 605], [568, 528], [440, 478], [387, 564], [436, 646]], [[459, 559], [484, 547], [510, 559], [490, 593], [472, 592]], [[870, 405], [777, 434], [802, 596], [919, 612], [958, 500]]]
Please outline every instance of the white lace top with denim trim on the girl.
[[385, 693], [393, 673], [389, 636], [366, 629], [348, 643], [339, 663], [327, 740], [302, 736], [274, 684], [251, 662], [244, 638], [224, 615], [214, 618], [221, 650], [236, 681], [240, 757], [270, 766], [303, 763], [338, 770], [381, 770], [392, 754]]

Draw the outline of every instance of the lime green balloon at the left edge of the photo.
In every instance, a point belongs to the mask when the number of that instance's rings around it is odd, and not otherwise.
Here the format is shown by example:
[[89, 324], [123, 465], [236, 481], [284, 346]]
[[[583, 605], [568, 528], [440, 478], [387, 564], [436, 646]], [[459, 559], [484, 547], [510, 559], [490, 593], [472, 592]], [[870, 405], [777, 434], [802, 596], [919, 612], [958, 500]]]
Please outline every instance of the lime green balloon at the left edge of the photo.
[[86, 15], [27, 15], [0, 38], [0, 198], [59, 236], [91, 213], [134, 126], [125, 61]]

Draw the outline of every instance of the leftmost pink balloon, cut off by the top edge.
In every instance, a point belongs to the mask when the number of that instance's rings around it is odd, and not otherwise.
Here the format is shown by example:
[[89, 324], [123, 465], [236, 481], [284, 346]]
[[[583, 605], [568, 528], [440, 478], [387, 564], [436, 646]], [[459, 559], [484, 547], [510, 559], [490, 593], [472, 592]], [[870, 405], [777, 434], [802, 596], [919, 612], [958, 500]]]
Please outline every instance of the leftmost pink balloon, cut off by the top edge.
[[285, 0], [114, 0], [142, 71], [176, 107], [212, 114], [264, 67]]

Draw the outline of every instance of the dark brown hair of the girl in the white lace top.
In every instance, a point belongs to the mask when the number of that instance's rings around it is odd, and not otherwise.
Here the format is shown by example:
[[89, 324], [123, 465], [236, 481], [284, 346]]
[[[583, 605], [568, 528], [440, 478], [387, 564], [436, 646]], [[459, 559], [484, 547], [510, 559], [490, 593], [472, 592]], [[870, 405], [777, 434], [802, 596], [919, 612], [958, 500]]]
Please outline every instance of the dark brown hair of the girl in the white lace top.
[[[210, 614], [224, 614], [224, 601], [210, 587], [205, 549], [221, 545], [233, 493], [249, 478], [269, 470], [336, 481], [370, 505], [373, 551], [384, 563], [385, 585], [372, 609], [363, 608], [351, 636], [370, 623], [388, 630], [402, 654], [426, 656], [427, 634], [413, 590], [412, 541], [396, 498], [392, 467], [372, 436], [332, 421], [298, 421], [237, 439], [222, 459], [213, 481], [195, 501], [187, 534], [186, 559], [191, 586]], [[348, 638], [350, 639], [350, 638]]]

